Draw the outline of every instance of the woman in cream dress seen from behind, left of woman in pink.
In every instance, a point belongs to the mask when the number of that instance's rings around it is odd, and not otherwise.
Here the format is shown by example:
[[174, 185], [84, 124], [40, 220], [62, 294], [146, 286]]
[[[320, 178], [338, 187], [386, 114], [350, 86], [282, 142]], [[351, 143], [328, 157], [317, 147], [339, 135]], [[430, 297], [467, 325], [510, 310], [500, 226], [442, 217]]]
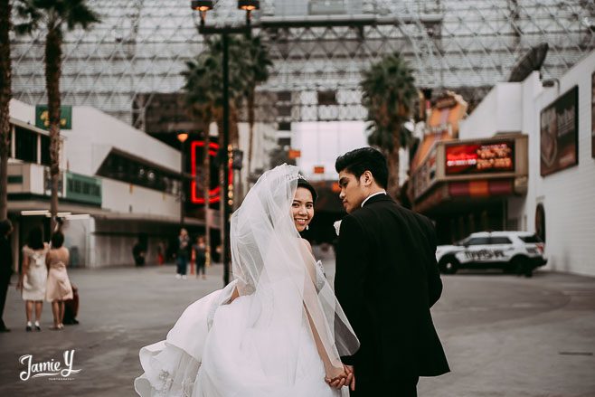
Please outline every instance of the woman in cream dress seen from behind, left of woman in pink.
[[39, 321], [42, 317], [43, 299], [45, 298], [45, 284], [48, 270], [45, 267], [45, 257], [49, 245], [43, 242], [42, 228], [36, 227], [29, 232], [27, 244], [23, 247], [23, 266], [16, 288], [21, 291], [25, 301], [27, 326], [25, 330], [31, 332], [33, 324], [33, 307], [35, 308], [35, 331], [41, 331]]

